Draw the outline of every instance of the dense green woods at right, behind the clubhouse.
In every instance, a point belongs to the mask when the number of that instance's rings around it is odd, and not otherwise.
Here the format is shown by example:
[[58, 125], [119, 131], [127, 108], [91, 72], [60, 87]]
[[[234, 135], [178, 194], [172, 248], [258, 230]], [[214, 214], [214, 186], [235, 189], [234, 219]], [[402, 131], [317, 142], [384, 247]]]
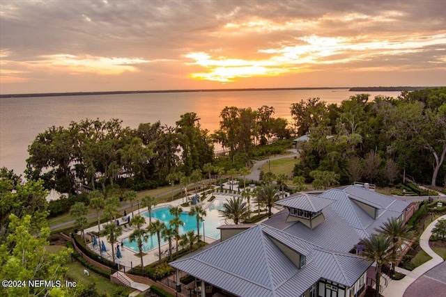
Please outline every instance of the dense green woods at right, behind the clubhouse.
[[385, 186], [401, 177], [445, 184], [446, 88], [378, 96], [374, 102], [367, 94], [355, 95], [339, 106], [312, 98], [293, 104], [291, 114], [295, 131], [308, 136], [298, 143], [300, 163], [294, 169], [307, 182], [331, 172], [340, 184]]

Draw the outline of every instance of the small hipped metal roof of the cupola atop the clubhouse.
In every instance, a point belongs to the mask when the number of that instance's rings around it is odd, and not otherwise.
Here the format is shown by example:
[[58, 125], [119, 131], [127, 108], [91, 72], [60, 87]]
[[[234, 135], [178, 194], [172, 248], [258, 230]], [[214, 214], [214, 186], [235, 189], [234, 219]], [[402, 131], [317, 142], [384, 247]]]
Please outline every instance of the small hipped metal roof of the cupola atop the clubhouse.
[[289, 198], [285, 198], [277, 201], [275, 204], [282, 205], [284, 207], [293, 207], [295, 209], [303, 209], [306, 211], [318, 212], [328, 207], [335, 200], [330, 198], [323, 198], [321, 196], [301, 194], [291, 195]]

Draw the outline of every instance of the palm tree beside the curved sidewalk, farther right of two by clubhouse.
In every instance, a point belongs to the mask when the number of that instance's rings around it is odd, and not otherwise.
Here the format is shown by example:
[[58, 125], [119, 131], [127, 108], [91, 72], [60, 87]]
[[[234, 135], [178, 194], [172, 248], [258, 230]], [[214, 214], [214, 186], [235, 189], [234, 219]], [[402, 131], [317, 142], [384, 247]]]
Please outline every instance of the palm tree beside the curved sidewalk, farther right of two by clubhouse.
[[403, 241], [403, 239], [410, 239], [412, 237], [412, 232], [410, 232], [410, 227], [408, 225], [404, 225], [402, 220], [397, 220], [396, 218], [387, 218], [387, 222], [383, 223], [381, 227], [375, 228], [375, 231], [384, 234], [392, 242], [390, 249], [392, 251], [391, 274], [393, 276], [395, 274], [398, 247], [401, 246], [401, 241]]

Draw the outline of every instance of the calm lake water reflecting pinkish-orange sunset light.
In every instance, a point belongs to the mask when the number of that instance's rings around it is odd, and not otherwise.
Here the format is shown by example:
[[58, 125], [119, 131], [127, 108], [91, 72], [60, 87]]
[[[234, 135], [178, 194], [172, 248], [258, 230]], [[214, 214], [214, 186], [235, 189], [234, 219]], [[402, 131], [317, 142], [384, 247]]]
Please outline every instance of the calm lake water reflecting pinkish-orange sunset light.
[[[256, 90], [194, 93], [147, 93], [121, 95], [85, 95], [60, 97], [28, 97], [0, 99], [0, 167], [17, 174], [26, 168], [28, 145], [48, 127], [68, 127], [71, 121], [86, 118], [123, 120], [123, 126], [137, 128], [141, 122], [174, 126], [180, 115], [195, 112], [201, 127], [218, 129], [220, 111], [225, 106], [258, 109], [263, 105], [275, 108], [275, 117], [291, 120], [290, 106], [301, 99], [320, 97], [328, 103], [362, 92], [341, 90]], [[364, 92], [366, 93], [366, 92]], [[397, 97], [400, 92], [367, 92]]]

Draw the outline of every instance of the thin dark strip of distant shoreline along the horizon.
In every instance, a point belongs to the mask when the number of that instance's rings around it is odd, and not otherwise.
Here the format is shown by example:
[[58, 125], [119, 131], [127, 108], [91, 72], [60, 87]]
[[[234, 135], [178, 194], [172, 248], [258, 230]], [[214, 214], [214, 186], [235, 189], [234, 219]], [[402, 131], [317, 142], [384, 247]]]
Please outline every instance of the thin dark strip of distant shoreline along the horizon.
[[31, 93], [31, 94], [0, 94], [0, 98], [22, 98], [22, 97], [56, 97], [56, 96], [86, 96], [86, 95], [120, 95], [120, 94], [144, 94], [144, 93], [192, 93], [192, 92], [236, 92], [236, 91], [268, 91], [268, 90], [341, 90], [347, 89], [353, 92], [390, 92], [390, 91], [412, 91], [424, 88], [437, 87], [357, 87], [357, 88], [233, 88], [233, 89], [202, 89], [202, 90], [123, 90], [108, 92], [67, 92], [67, 93]]

